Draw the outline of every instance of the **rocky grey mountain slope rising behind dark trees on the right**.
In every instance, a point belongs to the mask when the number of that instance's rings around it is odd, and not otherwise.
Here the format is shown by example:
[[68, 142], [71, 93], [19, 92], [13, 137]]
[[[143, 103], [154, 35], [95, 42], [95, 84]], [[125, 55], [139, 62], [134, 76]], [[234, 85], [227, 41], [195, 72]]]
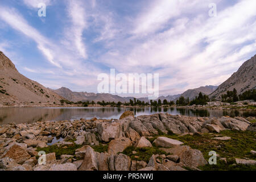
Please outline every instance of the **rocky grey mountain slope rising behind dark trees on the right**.
[[210, 94], [210, 97], [221, 99], [221, 95], [228, 90], [237, 90], [238, 94], [245, 92], [248, 89], [256, 88], [256, 55], [250, 60], [245, 61], [237, 72], [223, 82], [218, 88]]

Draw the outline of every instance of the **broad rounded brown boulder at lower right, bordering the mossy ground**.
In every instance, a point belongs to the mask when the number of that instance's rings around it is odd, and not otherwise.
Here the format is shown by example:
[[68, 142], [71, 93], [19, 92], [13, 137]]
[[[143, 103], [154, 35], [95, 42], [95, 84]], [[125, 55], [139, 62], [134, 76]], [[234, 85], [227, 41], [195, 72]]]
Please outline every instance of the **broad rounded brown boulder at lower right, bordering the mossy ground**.
[[199, 167], [207, 164], [203, 154], [199, 150], [192, 149], [189, 146], [175, 146], [173, 148], [160, 148], [167, 153], [177, 155], [180, 163], [187, 167]]

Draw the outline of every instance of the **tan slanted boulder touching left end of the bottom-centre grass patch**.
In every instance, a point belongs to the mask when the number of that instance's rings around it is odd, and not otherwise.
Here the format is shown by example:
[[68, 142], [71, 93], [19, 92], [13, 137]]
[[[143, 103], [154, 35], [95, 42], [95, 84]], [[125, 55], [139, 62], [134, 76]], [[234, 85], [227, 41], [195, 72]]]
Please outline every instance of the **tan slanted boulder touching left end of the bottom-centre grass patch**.
[[129, 146], [132, 146], [131, 140], [129, 138], [121, 137], [118, 139], [114, 139], [109, 142], [108, 153], [111, 155], [115, 155], [118, 152], [122, 152], [123, 150], [125, 150], [125, 148]]

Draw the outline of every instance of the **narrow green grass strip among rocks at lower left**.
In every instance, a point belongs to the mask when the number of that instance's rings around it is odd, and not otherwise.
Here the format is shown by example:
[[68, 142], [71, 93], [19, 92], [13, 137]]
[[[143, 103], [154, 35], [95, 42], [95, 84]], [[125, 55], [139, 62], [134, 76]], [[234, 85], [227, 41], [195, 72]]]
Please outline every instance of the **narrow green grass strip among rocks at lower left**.
[[79, 144], [74, 144], [68, 148], [57, 147], [57, 145], [52, 145], [44, 148], [37, 148], [36, 151], [44, 151], [46, 154], [55, 152], [56, 159], [60, 159], [61, 155], [75, 155], [75, 151], [82, 146]]

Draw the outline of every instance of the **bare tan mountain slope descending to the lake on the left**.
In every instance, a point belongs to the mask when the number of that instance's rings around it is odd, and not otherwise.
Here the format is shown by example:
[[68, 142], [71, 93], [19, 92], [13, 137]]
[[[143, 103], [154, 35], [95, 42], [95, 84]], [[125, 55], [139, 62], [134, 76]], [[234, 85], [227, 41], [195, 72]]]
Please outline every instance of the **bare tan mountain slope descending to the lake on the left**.
[[20, 105], [39, 102], [59, 102], [52, 90], [23, 76], [11, 60], [0, 51], [0, 105]]

